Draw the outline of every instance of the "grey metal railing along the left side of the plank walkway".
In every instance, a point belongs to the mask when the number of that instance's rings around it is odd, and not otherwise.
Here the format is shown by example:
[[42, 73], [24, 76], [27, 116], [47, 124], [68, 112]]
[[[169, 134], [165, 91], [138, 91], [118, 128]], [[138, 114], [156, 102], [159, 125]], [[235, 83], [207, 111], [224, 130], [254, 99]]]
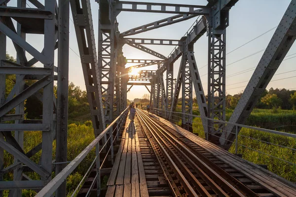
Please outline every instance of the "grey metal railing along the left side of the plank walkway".
[[[88, 193], [86, 196], [90, 195], [90, 191], [93, 189], [95, 183], [98, 183], [98, 193], [100, 193], [100, 169], [105, 164], [105, 162], [108, 160], [108, 157], [111, 155], [111, 160], [113, 161], [114, 153], [113, 153], [113, 143], [115, 139], [119, 139], [120, 129], [123, 126], [123, 123], [127, 117], [128, 114], [128, 108], [126, 108], [103, 132], [101, 132], [75, 159], [68, 164], [60, 173], [58, 173], [42, 190], [38, 192], [36, 197], [51, 197], [51, 195], [60, 187], [60, 185], [67, 179], [67, 177], [74, 171], [74, 169], [83, 161], [83, 159], [93, 150], [96, 149], [96, 157], [94, 158], [94, 161], [89, 166], [86, 174], [80, 181], [77, 188], [74, 190], [74, 193], [72, 196], [75, 196], [81, 186], [83, 185], [85, 179], [89, 175], [91, 169], [94, 167], [95, 164], [97, 164], [97, 174], [94, 178], [91, 187], [88, 190]], [[99, 146], [99, 142], [102, 141], [102, 147]], [[101, 148], [101, 150], [100, 150]], [[108, 149], [108, 150], [107, 150]], [[100, 164], [100, 153], [104, 151], [104, 159], [102, 164]], [[113, 162], [112, 162], [113, 164]], [[100, 166], [98, 168], [98, 165]]]

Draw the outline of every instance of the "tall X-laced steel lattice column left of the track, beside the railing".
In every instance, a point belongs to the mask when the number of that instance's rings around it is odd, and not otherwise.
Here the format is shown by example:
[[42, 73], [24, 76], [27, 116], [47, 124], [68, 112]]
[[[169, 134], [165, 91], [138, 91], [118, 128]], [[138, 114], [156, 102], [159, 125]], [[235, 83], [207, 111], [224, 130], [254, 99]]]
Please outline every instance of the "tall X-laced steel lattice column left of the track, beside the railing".
[[[99, 40], [98, 40], [98, 64], [101, 76], [103, 109], [106, 124], [113, 119], [114, 82], [116, 72], [115, 39], [115, 11], [112, 0], [108, 5], [99, 2]], [[102, 10], [109, 10], [109, 18], [104, 18]]]

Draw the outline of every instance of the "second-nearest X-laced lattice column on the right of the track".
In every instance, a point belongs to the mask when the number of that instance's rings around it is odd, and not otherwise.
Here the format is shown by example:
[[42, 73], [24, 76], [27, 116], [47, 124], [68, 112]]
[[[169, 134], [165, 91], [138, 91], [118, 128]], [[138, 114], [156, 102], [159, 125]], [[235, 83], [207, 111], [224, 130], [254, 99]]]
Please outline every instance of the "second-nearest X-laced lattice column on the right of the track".
[[186, 55], [183, 54], [182, 69], [182, 127], [188, 131], [192, 131], [192, 81], [190, 67]]

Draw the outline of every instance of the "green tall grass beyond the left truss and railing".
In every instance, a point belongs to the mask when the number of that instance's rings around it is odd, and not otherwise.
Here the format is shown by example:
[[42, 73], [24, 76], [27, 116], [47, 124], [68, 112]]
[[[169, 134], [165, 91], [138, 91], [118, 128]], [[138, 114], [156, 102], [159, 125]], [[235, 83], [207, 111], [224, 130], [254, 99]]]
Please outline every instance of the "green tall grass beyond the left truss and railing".
[[[40, 131], [25, 131], [24, 132], [24, 152], [27, 153], [33, 147], [41, 142], [42, 134]], [[88, 122], [83, 125], [70, 124], [68, 126], [68, 154], [67, 161], [72, 161], [91, 141], [94, 140], [93, 127]], [[55, 141], [53, 142], [53, 159], [55, 159]], [[31, 159], [38, 163], [41, 156], [41, 151], [39, 151]], [[95, 158], [95, 150], [92, 150], [81, 164], [79, 164], [74, 172], [67, 178], [67, 191], [71, 193], [74, 191], [83, 175], [86, 173], [88, 166], [92, 163]], [[4, 167], [13, 164], [12, 155], [7, 152], [4, 153]], [[87, 166], [87, 167], [85, 167]], [[39, 179], [39, 176], [35, 172], [25, 172], [32, 179]], [[53, 173], [54, 176], [54, 173]], [[4, 176], [5, 181], [13, 180], [13, 174], [7, 173]], [[35, 191], [23, 190], [23, 197], [33, 197], [36, 195]], [[8, 196], [8, 192], [4, 191], [4, 197]]]

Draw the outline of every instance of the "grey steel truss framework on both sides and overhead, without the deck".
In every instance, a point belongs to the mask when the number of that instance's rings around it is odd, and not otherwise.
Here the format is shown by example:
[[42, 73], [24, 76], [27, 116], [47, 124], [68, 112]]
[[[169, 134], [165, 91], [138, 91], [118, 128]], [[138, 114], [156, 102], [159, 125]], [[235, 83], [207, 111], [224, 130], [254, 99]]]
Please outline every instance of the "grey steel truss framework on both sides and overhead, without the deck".
[[[54, 167], [57, 174], [66, 166], [70, 5], [95, 136], [98, 136], [126, 109], [127, 92], [134, 85], [145, 86], [150, 93], [150, 105], [170, 111], [171, 113], [163, 114], [168, 119], [172, 118], [172, 112], [176, 111], [179, 95], [182, 92], [184, 113], [182, 125], [189, 131], [192, 131], [190, 115], [193, 88], [200, 116], [225, 121], [226, 28], [229, 25], [229, 10], [238, 0], [208, 0], [209, 3], [203, 6], [119, 0], [96, 1], [99, 3], [97, 46], [90, 0], [59, 0], [59, 3], [56, 0], [45, 0], [44, 4], [38, 0], [28, 0], [34, 8], [27, 8], [26, 0], [17, 0], [16, 7], [7, 7], [9, 0], [0, 0], [0, 196], [2, 190], [10, 190], [9, 196], [15, 197], [22, 195], [22, 189], [39, 190], [51, 180]], [[296, 0], [292, 0], [229, 122], [245, 123], [259, 96], [294, 43], [295, 4]], [[120, 33], [116, 17], [121, 11], [176, 15]], [[126, 37], [197, 16], [199, 18], [192, 29], [180, 39]], [[17, 23], [16, 27], [13, 20]], [[194, 43], [206, 32], [207, 98], [197, 69], [198, 60], [195, 59], [193, 50]], [[27, 33], [44, 35], [42, 52], [26, 41]], [[12, 40], [15, 47], [16, 62], [6, 60], [7, 37]], [[157, 59], [125, 58], [122, 51], [125, 44]], [[176, 47], [169, 56], [164, 56], [144, 45]], [[56, 49], [58, 49], [58, 65], [54, 65]], [[33, 58], [29, 60], [27, 54]], [[174, 63], [179, 58], [181, 65], [177, 79], [174, 79]], [[37, 63], [42, 66], [34, 66]], [[138, 65], [127, 67], [126, 64], [129, 63]], [[134, 68], [151, 65], [158, 65], [158, 69], [141, 70], [136, 76], [129, 74]], [[166, 72], [165, 79], [164, 72]], [[15, 84], [9, 93], [5, 92], [7, 75], [15, 75]], [[31, 97], [42, 102], [39, 120], [28, 120], [25, 116], [24, 103]], [[207, 139], [222, 145], [225, 149], [230, 147], [230, 141], [235, 137], [233, 126], [204, 119], [202, 124]], [[24, 131], [42, 133], [42, 142], [27, 153], [24, 152]], [[103, 139], [107, 137], [104, 136]], [[57, 154], [53, 160], [52, 148], [55, 139]], [[3, 168], [4, 150], [14, 157], [14, 164], [5, 168]], [[30, 158], [39, 151], [42, 151], [41, 158], [35, 163]], [[99, 145], [96, 146], [96, 152], [99, 152]], [[100, 166], [100, 158], [96, 162], [97, 166]], [[25, 170], [36, 172], [40, 180], [31, 180], [24, 173]], [[4, 182], [3, 174], [11, 171], [13, 171], [13, 181]], [[97, 171], [100, 173], [98, 167]], [[99, 195], [99, 179], [97, 185], [97, 195]], [[66, 196], [66, 183], [60, 186], [55, 195]]]

